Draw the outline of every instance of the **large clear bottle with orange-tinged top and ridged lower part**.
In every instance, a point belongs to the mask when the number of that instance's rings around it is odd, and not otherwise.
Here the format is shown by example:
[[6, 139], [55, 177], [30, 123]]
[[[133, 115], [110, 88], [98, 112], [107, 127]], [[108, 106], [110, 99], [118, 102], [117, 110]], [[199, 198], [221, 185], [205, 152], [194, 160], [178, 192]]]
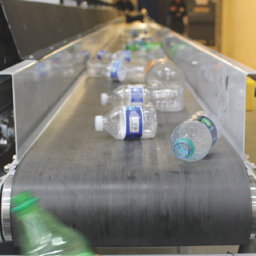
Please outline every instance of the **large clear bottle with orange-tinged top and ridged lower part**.
[[184, 108], [185, 78], [170, 60], [158, 59], [146, 68], [145, 84], [152, 87], [154, 106], [160, 111], [180, 111]]

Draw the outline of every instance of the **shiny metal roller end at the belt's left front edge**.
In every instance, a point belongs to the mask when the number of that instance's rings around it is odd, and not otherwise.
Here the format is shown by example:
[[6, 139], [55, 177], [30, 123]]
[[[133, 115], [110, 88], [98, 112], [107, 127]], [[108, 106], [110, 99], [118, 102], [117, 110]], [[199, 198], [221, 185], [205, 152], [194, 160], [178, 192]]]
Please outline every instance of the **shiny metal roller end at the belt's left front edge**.
[[10, 230], [10, 194], [12, 191], [12, 179], [14, 176], [8, 176], [3, 184], [1, 200], [1, 221], [3, 227], [3, 238], [6, 242], [12, 241]]

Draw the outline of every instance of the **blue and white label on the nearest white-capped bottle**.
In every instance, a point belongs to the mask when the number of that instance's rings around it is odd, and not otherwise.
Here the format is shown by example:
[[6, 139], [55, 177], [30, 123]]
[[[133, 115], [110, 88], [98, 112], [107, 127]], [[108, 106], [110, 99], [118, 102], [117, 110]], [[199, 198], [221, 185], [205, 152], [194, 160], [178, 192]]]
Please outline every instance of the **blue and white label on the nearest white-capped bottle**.
[[140, 138], [143, 134], [143, 111], [140, 106], [124, 107], [126, 114], [125, 139]]

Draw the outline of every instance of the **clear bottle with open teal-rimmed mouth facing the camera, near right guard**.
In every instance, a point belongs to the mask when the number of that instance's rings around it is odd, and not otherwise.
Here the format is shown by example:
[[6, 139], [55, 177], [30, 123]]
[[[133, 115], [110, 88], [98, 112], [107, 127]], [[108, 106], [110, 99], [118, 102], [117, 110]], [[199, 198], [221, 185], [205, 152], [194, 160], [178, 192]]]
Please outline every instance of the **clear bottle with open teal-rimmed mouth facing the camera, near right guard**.
[[199, 111], [177, 126], [170, 137], [174, 155], [194, 162], [203, 159], [222, 136], [222, 124], [213, 113]]

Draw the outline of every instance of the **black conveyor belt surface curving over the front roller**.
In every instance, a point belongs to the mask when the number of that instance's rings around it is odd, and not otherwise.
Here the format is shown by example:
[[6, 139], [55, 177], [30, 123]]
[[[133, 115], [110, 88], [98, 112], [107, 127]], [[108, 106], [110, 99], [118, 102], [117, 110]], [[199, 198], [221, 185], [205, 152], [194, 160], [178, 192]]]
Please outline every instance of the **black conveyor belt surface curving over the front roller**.
[[[157, 112], [154, 139], [120, 141], [94, 127], [95, 115], [111, 109], [100, 93], [115, 86], [88, 78], [78, 87], [17, 166], [12, 196], [33, 189], [92, 246], [247, 244], [249, 179], [227, 140], [195, 163], [171, 154], [172, 130], [201, 110], [189, 90], [183, 111]], [[13, 218], [11, 227], [17, 244]]]

